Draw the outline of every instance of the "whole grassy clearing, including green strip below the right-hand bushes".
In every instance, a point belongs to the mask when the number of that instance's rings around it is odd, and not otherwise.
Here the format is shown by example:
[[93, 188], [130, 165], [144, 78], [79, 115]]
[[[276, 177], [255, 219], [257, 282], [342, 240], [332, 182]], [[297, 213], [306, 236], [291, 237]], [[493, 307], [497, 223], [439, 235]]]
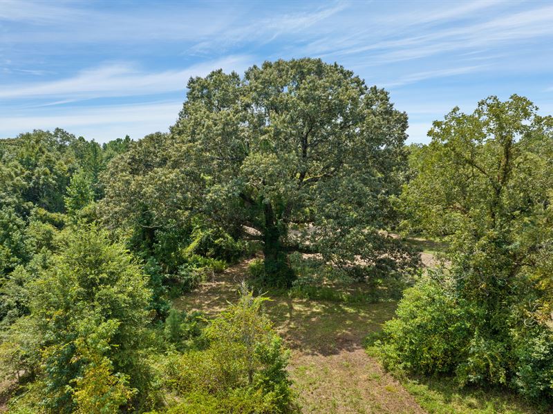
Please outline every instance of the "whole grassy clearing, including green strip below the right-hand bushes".
[[[246, 277], [244, 262], [174, 304], [182, 310], [216, 315], [238, 297], [237, 286]], [[368, 355], [362, 344], [366, 335], [380, 331], [393, 317], [396, 303], [344, 299], [344, 295], [341, 291], [329, 299], [305, 299], [278, 291], [269, 295], [266, 312], [291, 349], [290, 375], [303, 413], [548, 412], [503, 391], [386, 373], [376, 355]]]

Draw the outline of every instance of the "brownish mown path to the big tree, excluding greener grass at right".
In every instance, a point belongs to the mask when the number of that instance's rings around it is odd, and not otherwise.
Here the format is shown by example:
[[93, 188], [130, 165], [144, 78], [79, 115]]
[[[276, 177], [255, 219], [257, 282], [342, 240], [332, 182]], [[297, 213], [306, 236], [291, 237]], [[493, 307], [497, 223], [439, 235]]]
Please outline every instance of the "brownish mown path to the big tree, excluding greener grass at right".
[[[216, 315], [237, 298], [247, 262], [176, 300], [177, 308]], [[343, 304], [272, 297], [268, 314], [291, 350], [290, 375], [303, 413], [424, 413], [369, 357], [362, 339], [393, 316], [395, 304]]]

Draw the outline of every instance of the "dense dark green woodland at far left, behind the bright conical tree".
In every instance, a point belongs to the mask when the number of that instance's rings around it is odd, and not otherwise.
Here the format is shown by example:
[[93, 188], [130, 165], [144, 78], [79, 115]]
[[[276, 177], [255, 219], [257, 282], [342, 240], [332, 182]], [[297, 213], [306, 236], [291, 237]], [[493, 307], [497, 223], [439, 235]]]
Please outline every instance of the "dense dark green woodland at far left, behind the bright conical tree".
[[[28, 313], [28, 284], [71, 221], [95, 221], [102, 148], [64, 130], [0, 141], [0, 325]], [[41, 264], [42, 263], [42, 264]], [[19, 267], [23, 266], [23, 267]]]

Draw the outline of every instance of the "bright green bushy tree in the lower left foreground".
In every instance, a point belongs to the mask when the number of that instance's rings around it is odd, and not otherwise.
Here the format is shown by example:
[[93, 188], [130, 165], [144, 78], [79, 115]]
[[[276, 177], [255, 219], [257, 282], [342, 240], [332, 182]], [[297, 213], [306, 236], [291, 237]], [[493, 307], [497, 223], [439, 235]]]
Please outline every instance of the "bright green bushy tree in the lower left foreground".
[[40, 342], [26, 355], [41, 360], [46, 407], [100, 412], [102, 404], [116, 411], [142, 401], [150, 381], [142, 270], [95, 226], [64, 230], [59, 243], [31, 285], [29, 318]]

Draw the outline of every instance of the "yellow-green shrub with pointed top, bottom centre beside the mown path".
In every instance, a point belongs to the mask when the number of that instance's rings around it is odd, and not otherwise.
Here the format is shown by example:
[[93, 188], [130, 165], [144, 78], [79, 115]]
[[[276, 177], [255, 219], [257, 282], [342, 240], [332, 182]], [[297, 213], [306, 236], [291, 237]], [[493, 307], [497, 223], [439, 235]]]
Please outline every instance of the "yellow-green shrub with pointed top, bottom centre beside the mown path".
[[[209, 346], [171, 357], [167, 386], [182, 403], [172, 413], [283, 413], [291, 408], [288, 353], [262, 312], [262, 297], [242, 287], [232, 304], [206, 328]], [[175, 314], [176, 315], [176, 314]], [[177, 318], [171, 322], [177, 326]], [[177, 328], [171, 329], [180, 332]], [[216, 408], [214, 408], [216, 407]], [[211, 411], [214, 410], [214, 411]]]

